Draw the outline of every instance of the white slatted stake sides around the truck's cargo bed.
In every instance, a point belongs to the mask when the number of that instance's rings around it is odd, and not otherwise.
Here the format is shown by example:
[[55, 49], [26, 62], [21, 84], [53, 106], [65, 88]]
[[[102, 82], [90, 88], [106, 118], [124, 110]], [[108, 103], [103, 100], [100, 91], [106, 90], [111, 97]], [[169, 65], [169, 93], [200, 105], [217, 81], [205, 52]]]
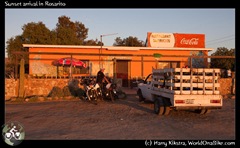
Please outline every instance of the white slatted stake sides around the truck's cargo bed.
[[219, 95], [220, 69], [154, 69], [152, 90], [176, 95]]

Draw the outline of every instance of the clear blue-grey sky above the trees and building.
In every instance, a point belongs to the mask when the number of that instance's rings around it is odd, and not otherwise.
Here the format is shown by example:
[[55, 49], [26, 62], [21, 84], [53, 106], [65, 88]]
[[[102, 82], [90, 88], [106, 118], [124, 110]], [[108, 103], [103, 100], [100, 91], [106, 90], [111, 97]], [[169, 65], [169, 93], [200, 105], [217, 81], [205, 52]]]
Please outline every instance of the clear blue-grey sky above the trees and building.
[[100, 41], [104, 35], [104, 46], [112, 46], [116, 37], [133, 36], [145, 42], [147, 32], [205, 34], [206, 48], [213, 49], [211, 55], [219, 47], [235, 48], [235, 11], [234, 8], [5, 8], [5, 48], [8, 39], [23, 33], [23, 25], [42, 22], [53, 30], [58, 17], [67, 16], [89, 29], [86, 40]]

